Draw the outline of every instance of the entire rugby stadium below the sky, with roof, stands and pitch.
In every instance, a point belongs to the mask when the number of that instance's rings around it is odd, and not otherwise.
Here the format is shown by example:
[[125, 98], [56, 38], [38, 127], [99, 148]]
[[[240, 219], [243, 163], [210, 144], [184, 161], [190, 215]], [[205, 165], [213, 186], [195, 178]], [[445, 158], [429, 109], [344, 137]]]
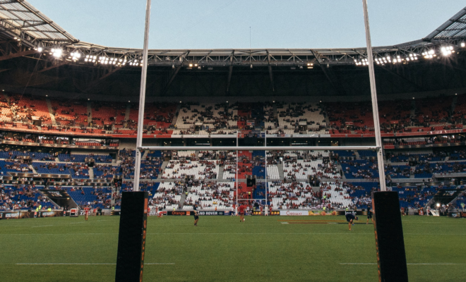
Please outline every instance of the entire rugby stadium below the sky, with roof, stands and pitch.
[[368, 49], [107, 47], [0, 0], [0, 281], [462, 281], [466, 7]]

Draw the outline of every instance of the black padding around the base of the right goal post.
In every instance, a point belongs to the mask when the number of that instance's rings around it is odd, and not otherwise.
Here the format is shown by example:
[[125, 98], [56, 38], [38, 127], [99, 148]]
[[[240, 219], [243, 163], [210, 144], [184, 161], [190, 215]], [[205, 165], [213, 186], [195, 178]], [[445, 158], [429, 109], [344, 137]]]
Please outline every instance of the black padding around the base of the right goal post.
[[372, 192], [378, 281], [407, 282], [407, 265], [398, 192]]

